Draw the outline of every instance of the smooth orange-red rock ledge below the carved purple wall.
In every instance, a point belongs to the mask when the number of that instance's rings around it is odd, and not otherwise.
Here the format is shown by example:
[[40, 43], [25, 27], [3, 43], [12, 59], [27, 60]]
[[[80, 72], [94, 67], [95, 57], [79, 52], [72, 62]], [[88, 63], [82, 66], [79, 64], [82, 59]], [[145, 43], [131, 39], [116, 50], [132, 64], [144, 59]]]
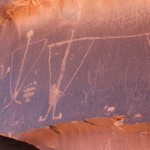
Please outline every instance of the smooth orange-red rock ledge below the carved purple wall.
[[95, 118], [41, 128], [18, 137], [40, 150], [149, 150], [150, 123], [121, 125], [121, 118]]

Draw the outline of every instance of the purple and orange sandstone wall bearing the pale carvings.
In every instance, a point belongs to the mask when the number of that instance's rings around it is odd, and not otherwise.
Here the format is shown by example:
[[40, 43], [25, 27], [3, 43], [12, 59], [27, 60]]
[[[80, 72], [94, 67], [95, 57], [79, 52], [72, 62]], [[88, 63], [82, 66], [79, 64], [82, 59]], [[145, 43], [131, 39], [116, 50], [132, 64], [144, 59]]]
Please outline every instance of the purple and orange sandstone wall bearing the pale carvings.
[[98, 116], [149, 122], [149, 6], [149, 0], [1, 5], [0, 132]]

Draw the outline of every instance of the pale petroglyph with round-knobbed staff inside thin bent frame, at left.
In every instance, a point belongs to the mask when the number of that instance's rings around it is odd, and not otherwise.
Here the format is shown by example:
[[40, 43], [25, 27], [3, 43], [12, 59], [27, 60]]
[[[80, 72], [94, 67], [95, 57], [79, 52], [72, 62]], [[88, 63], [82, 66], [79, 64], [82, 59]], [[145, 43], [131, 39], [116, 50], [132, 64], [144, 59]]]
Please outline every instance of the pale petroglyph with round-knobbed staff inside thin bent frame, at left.
[[[30, 30], [30, 31], [27, 33], [27, 45], [26, 45], [26, 46], [23, 46], [23, 47], [20, 47], [19, 49], [16, 49], [16, 50], [14, 50], [14, 51], [12, 52], [11, 70], [10, 70], [10, 95], [11, 95], [11, 101], [4, 107], [4, 109], [8, 108], [9, 105], [10, 105], [13, 101], [16, 102], [17, 104], [21, 104], [21, 102], [17, 100], [17, 96], [18, 96], [20, 90], [23, 88], [23, 85], [24, 85], [25, 81], [27, 80], [28, 76], [30, 75], [31, 71], [33, 70], [34, 66], [36, 65], [37, 61], [39, 60], [40, 56], [42, 55], [42, 53], [43, 53], [43, 51], [44, 51], [44, 49], [45, 49], [47, 40], [46, 40], [46, 39], [42, 39], [42, 40], [39, 40], [39, 41], [30, 43], [32, 36], [33, 36], [33, 31]], [[43, 45], [43, 47], [42, 47], [42, 49], [41, 49], [39, 55], [37, 56], [36, 60], [33, 62], [33, 64], [31, 65], [31, 67], [29, 68], [28, 73], [27, 73], [26, 76], [23, 78], [23, 80], [21, 80], [22, 71], [23, 71], [24, 66], [25, 66], [25, 63], [26, 63], [29, 46], [31, 46], [31, 45], [33, 45], [33, 44], [36, 44], [36, 43], [39, 43], [39, 42], [44, 42], [44, 45]], [[13, 82], [12, 74], [13, 74], [13, 73], [12, 73], [12, 71], [13, 71], [13, 68], [14, 68], [14, 66], [13, 66], [14, 54], [15, 54], [16, 52], [20, 51], [21, 48], [25, 48], [25, 52], [24, 52], [24, 55], [23, 55], [23, 59], [22, 59], [22, 62], [21, 62], [21, 67], [20, 67], [20, 70], [19, 70], [19, 75], [18, 75], [16, 84], [15, 84], [15, 88], [14, 88], [14, 91], [13, 91], [13, 87], [12, 87], [12, 82]]]

